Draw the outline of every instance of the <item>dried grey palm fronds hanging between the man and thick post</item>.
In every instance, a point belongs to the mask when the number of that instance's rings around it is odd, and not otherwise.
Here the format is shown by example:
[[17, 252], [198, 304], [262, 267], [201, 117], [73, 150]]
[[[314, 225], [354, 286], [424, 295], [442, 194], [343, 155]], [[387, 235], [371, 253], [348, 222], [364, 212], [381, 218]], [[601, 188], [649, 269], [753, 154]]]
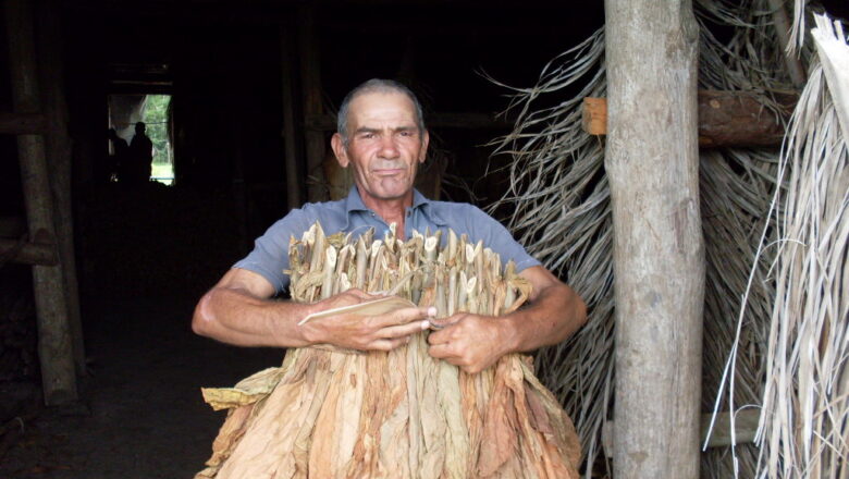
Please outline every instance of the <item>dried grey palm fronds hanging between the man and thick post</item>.
[[[575, 419], [587, 464], [603, 457], [601, 429], [613, 400], [610, 192], [603, 145], [580, 124], [583, 98], [605, 95], [604, 75], [602, 28], [545, 65], [534, 87], [510, 88], [516, 127], [494, 143], [496, 153], [512, 160], [510, 187], [493, 209], [502, 204], [515, 209], [508, 228], [519, 243], [567, 279], [592, 310], [578, 333], [537, 355], [540, 379]], [[578, 95], [537, 107], [571, 89]], [[588, 477], [591, 472], [588, 467]]]

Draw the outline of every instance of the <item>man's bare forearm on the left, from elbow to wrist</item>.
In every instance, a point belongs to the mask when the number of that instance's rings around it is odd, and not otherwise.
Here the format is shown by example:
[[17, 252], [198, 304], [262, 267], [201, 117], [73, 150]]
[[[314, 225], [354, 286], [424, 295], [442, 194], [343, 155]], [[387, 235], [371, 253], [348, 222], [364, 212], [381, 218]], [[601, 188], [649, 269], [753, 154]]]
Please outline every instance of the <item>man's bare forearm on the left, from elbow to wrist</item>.
[[311, 344], [297, 322], [310, 305], [260, 299], [230, 287], [214, 287], [195, 308], [193, 330], [238, 346], [302, 347]]

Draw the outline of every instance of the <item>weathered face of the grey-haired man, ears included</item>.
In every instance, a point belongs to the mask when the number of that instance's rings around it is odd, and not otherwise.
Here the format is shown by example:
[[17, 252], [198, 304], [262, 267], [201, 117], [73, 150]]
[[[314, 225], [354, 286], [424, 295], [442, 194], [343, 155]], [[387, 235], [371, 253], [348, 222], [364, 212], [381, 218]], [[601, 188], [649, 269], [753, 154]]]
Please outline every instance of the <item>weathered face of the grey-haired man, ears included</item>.
[[416, 125], [416, 108], [406, 95], [367, 93], [350, 102], [347, 148], [339, 134], [332, 144], [340, 164], [353, 165], [354, 180], [368, 201], [410, 194], [428, 139]]

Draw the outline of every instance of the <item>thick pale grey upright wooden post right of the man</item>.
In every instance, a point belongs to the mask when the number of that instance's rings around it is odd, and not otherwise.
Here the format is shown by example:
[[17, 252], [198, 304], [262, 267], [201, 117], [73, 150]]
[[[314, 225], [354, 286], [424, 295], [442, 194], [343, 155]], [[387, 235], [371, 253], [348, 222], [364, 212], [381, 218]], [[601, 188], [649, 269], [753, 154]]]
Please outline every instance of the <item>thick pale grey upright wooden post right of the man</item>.
[[704, 245], [689, 0], [605, 0], [614, 477], [698, 478]]

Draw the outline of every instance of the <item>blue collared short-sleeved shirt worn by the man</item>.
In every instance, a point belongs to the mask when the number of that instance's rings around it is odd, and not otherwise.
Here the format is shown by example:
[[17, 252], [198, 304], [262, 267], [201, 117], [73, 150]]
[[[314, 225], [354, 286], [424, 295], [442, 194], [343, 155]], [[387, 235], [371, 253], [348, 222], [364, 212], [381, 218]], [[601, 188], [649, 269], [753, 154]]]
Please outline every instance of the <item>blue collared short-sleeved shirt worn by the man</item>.
[[[432, 201], [418, 191], [413, 192], [413, 206], [405, 211], [404, 237], [413, 237], [413, 230], [431, 234], [443, 230], [443, 242], [447, 230], [454, 230], [457, 235], [467, 234], [469, 241], [483, 241], [483, 246], [491, 248], [506, 263], [513, 259], [516, 271], [540, 265], [525, 248], [518, 244], [510, 233], [480, 208], [466, 202]], [[294, 209], [279, 220], [266, 233], [258, 237], [254, 250], [244, 259], [233, 265], [233, 268], [254, 271], [266, 278], [280, 293], [288, 285], [288, 242], [290, 237], [300, 238], [302, 234], [316, 222], [328, 235], [345, 232], [353, 233], [357, 238], [369, 229], [374, 229], [374, 237], [382, 238], [390, 226], [374, 211], [367, 208], [360, 198], [357, 187], [353, 186], [347, 198], [336, 201], [309, 202], [304, 208]]]

